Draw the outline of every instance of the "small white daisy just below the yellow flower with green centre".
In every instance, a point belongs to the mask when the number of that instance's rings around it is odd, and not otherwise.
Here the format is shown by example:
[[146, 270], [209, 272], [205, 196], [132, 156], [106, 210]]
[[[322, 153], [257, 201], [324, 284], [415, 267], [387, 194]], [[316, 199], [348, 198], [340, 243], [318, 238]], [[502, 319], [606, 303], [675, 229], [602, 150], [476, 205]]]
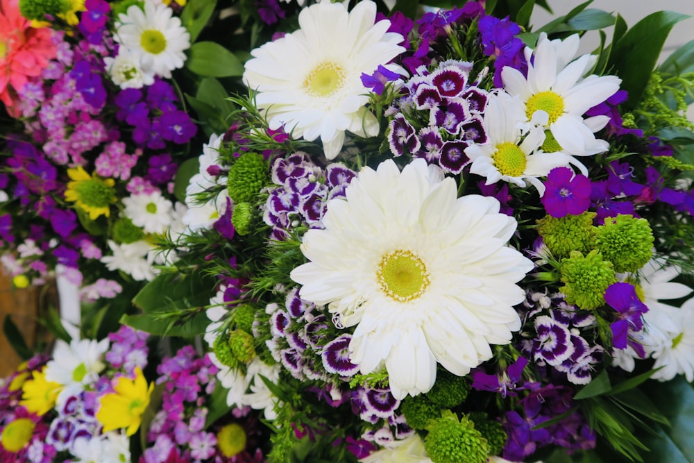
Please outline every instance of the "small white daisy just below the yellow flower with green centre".
[[173, 221], [174, 204], [160, 191], [132, 194], [123, 199], [125, 214], [145, 233], [164, 233]]

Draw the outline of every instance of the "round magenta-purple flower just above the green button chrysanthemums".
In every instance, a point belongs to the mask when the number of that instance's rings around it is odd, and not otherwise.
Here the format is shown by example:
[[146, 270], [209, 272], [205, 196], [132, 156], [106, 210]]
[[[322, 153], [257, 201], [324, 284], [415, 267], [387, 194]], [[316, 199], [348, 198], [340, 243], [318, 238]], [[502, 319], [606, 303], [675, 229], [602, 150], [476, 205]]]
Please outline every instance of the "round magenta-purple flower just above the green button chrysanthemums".
[[568, 167], [555, 167], [547, 175], [540, 201], [552, 217], [582, 214], [591, 205], [591, 180]]

